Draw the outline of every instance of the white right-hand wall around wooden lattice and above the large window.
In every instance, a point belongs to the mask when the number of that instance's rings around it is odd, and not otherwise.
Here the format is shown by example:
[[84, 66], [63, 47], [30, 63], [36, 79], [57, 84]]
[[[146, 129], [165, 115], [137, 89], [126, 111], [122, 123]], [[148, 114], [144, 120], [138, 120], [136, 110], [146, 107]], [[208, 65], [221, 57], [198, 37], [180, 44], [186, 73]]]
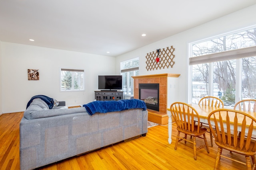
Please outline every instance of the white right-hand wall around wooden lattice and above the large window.
[[[174, 36], [168, 37], [161, 41], [157, 41], [140, 49], [136, 49], [124, 55], [116, 57], [116, 72], [120, 70], [120, 62], [126, 61], [129, 59], [134, 59], [139, 57], [140, 60], [140, 75], [147, 74], [164, 74], [164, 73], [173, 73], [180, 74], [178, 78], [178, 95], [173, 96], [176, 101], [180, 102], [189, 102], [188, 100], [188, 43], [193, 41], [198, 41], [200, 39], [205, 39], [242, 27], [248, 27], [250, 25], [256, 24], [256, 5], [250, 6], [243, 10], [234, 12], [222, 18], [210, 21], [198, 27], [194, 27], [187, 31], [181, 32]], [[170, 21], [171, 22], [171, 21]], [[150, 35], [147, 35], [150, 36]], [[146, 37], [145, 37], [146, 38]], [[163, 49], [166, 47], [173, 46], [174, 51], [174, 61], [175, 64], [173, 68], [164, 68], [160, 70], [146, 70], [146, 55], [156, 49]], [[168, 90], [168, 92], [172, 90]], [[170, 95], [170, 94], [168, 94]], [[169, 106], [168, 106], [169, 107]]]

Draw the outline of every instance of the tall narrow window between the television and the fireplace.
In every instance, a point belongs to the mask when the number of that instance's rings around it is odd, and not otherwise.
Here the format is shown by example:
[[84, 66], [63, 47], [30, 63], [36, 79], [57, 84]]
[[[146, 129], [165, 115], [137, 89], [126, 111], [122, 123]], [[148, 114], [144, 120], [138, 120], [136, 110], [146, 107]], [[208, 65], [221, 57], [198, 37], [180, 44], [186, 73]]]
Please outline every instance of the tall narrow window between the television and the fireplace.
[[122, 84], [125, 95], [133, 96], [133, 78], [139, 75], [139, 58], [121, 63]]

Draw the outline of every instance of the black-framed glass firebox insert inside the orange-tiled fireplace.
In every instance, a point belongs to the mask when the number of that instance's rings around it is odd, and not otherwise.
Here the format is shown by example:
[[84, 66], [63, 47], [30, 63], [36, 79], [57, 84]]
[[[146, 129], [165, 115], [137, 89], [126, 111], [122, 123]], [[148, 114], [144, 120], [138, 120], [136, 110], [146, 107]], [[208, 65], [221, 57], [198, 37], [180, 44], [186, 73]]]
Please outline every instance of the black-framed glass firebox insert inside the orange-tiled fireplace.
[[159, 111], [159, 83], [140, 83], [139, 99], [146, 103], [148, 109]]

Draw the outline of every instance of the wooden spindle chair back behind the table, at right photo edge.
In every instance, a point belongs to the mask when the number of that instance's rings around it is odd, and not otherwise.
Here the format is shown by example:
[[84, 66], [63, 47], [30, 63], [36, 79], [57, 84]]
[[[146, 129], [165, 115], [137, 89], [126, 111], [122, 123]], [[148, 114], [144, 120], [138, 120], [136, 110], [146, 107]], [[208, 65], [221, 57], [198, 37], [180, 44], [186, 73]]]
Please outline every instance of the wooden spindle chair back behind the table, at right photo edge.
[[256, 99], [241, 100], [235, 104], [234, 109], [256, 112]]

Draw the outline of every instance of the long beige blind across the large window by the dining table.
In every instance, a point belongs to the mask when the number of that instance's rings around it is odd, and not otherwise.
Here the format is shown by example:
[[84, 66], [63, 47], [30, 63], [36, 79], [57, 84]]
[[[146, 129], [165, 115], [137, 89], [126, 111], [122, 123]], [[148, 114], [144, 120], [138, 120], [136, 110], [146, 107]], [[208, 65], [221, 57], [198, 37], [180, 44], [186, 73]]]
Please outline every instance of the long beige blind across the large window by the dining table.
[[223, 51], [220, 53], [213, 53], [208, 55], [201, 55], [198, 57], [190, 57], [189, 64], [203, 64], [212, 63], [216, 61], [226, 61], [232, 59], [240, 59], [246, 57], [256, 57], [256, 46], [246, 47], [242, 49], [235, 49], [230, 51]]

